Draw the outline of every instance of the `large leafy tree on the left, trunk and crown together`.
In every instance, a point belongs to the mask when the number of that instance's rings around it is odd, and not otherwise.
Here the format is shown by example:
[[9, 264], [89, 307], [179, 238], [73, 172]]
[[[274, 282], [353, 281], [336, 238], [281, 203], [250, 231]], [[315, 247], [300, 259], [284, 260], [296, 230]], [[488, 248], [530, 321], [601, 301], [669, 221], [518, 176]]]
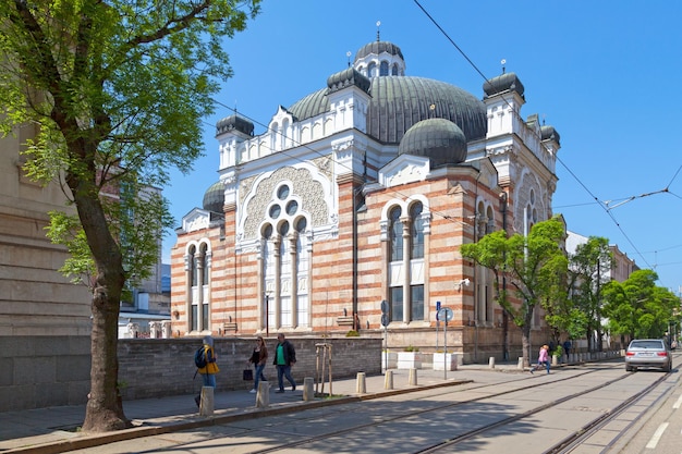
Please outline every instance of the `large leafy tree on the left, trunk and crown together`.
[[93, 290], [86, 431], [130, 426], [117, 390], [119, 304], [170, 222], [167, 201], [148, 189], [200, 156], [202, 119], [231, 74], [222, 40], [258, 8], [259, 0], [0, 2], [0, 128], [35, 126], [26, 172], [60, 179], [77, 212], [52, 213], [50, 236], [73, 253], [64, 270]]

